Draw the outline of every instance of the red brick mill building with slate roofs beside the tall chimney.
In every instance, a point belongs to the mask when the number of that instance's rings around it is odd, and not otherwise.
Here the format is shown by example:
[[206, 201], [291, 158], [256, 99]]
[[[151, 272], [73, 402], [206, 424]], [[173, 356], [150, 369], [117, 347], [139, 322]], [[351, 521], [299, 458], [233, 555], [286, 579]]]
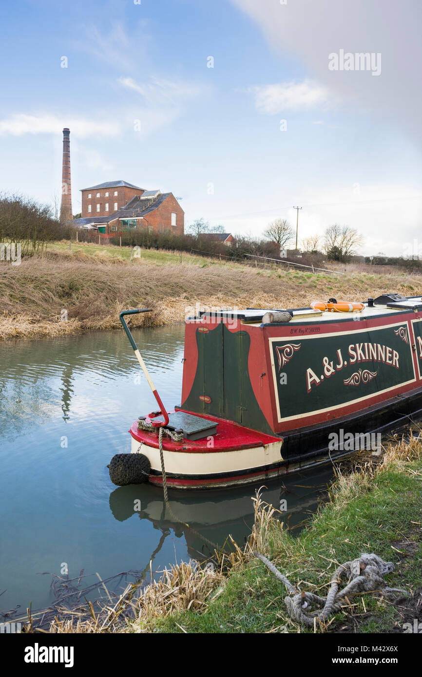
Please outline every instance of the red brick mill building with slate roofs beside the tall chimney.
[[147, 230], [184, 234], [184, 211], [173, 193], [144, 190], [126, 181], [108, 181], [84, 188], [79, 227], [113, 236]]

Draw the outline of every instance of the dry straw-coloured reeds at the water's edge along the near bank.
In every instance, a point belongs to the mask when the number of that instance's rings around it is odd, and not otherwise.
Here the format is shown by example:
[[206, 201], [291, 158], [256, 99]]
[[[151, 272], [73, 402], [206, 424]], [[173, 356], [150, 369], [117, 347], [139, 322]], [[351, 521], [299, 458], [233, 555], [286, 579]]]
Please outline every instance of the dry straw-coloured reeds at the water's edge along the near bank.
[[[73, 580], [60, 579], [56, 584], [58, 602], [45, 611], [35, 613], [28, 609], [26, 632], [144, 632], [157, 619], [173, 613], [184, 610], [201, 612], [224, 590], [230, 571], [244, 567], [254, 550], [266, 551], [266, 536], [276, 510], [261, 500], [259, 492], [252, 500], [255, 502], [255, 524], [244, 548], [240, 548], [229, 536], [226, 548], [216, 550], [209, 561], [172, 565], [162, 572], [158, 580], [153, 578], [150, 568], [149, 584], [145, 584], [142, 576], [138, 582], [127, 585], [120, 595], [109, 591], [106, 582], [97, 574], [106, 596], [95, 602], [87, 600], [87, 594], [100, 584], [78, 590]], [[280, 526], [280, 523], [277, 521], [276, 525]], [[127, 573], [135, 575], [136, 572]], [[64, 590], [66, 594], [63, 595]], [[85, 603], [82, 602], [84, 599]]]

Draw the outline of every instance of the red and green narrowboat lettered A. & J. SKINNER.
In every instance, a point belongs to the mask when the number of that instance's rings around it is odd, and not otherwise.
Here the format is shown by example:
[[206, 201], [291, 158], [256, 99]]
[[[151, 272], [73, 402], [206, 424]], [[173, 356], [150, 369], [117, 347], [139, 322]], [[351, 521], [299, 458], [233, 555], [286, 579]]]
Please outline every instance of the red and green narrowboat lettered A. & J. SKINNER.
[[110, 463], [115, 484], [159, 485], [163, 464], [180, 489], [268, 481], [362, 448], [377, 454], [382, 431], [422, 412], [422, 297], [200, 311], [186, 320], [171, 412], [125, 322], [146, 310], [121, 322], [160, 410], [133, 422], [131, 454]]

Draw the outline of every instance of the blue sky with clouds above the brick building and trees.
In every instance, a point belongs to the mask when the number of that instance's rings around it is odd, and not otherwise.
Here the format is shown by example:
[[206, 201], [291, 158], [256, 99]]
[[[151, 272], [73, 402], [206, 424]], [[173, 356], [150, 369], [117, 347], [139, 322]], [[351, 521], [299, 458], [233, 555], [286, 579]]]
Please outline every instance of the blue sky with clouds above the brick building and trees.
[[[299, 244], [333, 223], [358, 253], [422, 256], [422, 3], [0, 3], [0, 192], [173, 192], [185, 223]], [[356, 53], [367, 53], [356, 58]]]

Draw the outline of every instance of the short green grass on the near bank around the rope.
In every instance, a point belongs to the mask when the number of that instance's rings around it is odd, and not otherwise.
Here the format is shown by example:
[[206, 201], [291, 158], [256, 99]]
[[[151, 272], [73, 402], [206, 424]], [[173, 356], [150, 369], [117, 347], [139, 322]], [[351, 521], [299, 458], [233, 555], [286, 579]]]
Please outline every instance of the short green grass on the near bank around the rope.
[[[363, 474], [343, 479], [333, 489], [332, 502], [320, 510], [310, 527], [293, 538], [272, 523], [266, 539], [268, 556], [293, 585], [324, 595], [337, 568], [362, 552], [375, 552], [392, 561], [395, 570], [386, 585], [412, 592], [421, 586], [421, 460], [389, 466], [373, 477]], [[418, 526], [419, 523], [419, 526]], [[411, 556], [400, 554], [400, 542], [417, 541]], [[396, 545], [394, 545], [396, 544]], [[396, 549], [395, 549], [396, 548]], [[314, 632], [295, 624], [285, 611], [286, 590], [257, 560], [228, 575], [223, 592], [203, 613], [184, 611], [156, 621], [156, 632]], [[397, 607], [366, 594], [356, 598], [354, 626], [349, 632], [387, 632], [402, 623]], [[329, 630], [335, 632], [347, 621], [337, 613]], [[347, 626], [346, 626], [347, 627]], [[145, 628], [151, 630], [152, 628]]]

